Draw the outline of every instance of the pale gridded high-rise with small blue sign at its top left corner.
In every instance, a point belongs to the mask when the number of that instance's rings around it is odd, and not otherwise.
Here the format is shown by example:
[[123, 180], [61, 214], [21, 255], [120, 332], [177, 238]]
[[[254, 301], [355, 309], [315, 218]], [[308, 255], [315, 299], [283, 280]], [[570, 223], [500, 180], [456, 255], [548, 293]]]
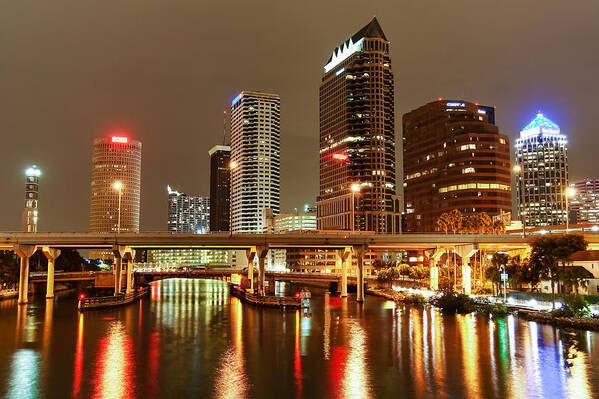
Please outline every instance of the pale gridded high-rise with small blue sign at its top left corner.
[[261, 233], [262, 211], [279, 213], [281, 127], [277, 94], [242, 91], [231, 103], [231, 230]]

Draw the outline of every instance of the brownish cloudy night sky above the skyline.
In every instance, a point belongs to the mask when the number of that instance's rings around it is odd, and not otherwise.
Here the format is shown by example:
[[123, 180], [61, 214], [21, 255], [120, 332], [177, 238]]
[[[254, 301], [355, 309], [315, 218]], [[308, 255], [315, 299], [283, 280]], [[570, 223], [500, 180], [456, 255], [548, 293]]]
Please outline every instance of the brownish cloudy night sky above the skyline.
[[141, 229], [166, 230], [166, 185], [209, 194], [242, 89], [281, 96], [281, 210], [314, 203], [322, 68], [373, 15], [398, 143], [401, 115], [438, 97], [496, 106], [512, 139], [541, 110], [569, 136], [570, 179], [599, 177], [597, 0], [5, 1], [0, 230], [21, 229], [35, 163], [40, 231], [86, 231], [92, 142], [113, 131], [143, 142]]

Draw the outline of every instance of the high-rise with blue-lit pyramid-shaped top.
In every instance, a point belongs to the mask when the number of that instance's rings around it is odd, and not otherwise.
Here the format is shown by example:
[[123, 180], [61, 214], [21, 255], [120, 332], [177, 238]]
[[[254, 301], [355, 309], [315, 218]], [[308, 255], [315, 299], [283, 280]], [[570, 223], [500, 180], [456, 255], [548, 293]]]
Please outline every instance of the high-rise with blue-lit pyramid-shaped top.
[[526, 226], [566, 224], [568, 138], [540, 112], [516, 139], [519, 211]]

